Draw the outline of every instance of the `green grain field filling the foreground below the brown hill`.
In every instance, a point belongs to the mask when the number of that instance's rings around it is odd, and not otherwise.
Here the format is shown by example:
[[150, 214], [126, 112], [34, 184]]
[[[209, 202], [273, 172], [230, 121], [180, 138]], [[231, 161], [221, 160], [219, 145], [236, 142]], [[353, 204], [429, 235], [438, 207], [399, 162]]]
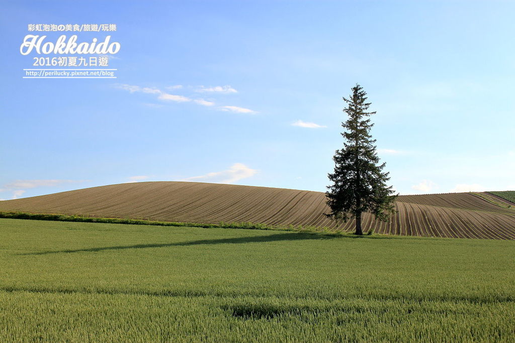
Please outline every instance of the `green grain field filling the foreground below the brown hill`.
[[0, 219], [0, 341], [513, 341], [515, 242]]

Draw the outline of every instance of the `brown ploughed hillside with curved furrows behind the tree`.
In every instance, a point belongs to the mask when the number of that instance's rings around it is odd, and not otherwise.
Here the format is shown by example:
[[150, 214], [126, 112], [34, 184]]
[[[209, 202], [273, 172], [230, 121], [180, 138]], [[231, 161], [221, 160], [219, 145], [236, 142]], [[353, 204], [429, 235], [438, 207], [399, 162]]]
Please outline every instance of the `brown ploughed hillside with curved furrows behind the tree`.
[[[364, 216], [364, 227], [403, 236], [515, 239], [515, 207], [488, 193], [403, 195], [388, 223]], [[0, 202], [1, 211], [110, 218], [270, 225], [335, 225], [321, 192], [193, 182], [140, 182]]]

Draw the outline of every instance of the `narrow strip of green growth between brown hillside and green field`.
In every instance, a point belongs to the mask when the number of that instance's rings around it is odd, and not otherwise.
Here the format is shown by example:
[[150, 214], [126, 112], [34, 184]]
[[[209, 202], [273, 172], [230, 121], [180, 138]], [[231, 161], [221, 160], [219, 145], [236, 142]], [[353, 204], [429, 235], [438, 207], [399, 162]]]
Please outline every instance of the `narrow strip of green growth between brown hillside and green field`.
[[302, 225], [268, 225], [264, 223], [252, 222], [219, 222], [218, 224], [209, 223], [184, 223], [184, 222], [161, 222], [141, 219], [119, 219], [102, 217], [85, 217], [79, 215], [65, 215], [57, 213], [28, 213], [28, 212], [6, 212], [0, 211], [0, 218], [7, 219], [28, 219], [28, 220], [47, 220], [58, 222], [84, 222], [84, 223], [106, 223], [106, 224], [131, 224], [131, 225], [159, 225], [159, 226], [180, 226], [180, 227], [202, 227], [202, 228], [226, 228], [226, 229], [254, 229], [254, 230], [282, 230], [282, 231], [312, 231], [328, 232], [329, 227], [302, 226]]

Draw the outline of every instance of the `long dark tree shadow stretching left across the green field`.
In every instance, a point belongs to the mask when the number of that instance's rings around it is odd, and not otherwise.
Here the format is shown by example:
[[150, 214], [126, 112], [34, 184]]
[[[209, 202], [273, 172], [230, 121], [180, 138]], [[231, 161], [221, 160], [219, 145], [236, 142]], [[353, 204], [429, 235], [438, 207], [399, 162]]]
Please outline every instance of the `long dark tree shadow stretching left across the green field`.
[[48, 255], [69, 252], [96, 252], [105, 250], [122, 250], [122, 249], [142, 249], [142, 248], [164, 248], [169, 246], [187, 246], [187, 245], [214, 245], [214, 244], [243, 244], [243, 243], [264, 243], [276, 241], [298, 241], [298, 240], [321, 240], [331, 239], [336, 237], [344, 237], [341, 235], [330, 234], [315, 234], [315, 233], [279, 233], [270, 234], [269, 236], [254, 236], [254, 237], [237, 237], [237, 238], [222, 238], [212, 240], [198, 240], [177, 243], [151, 243], [151, 244], [134, 244], [134, 245], [116, 245], [105, 247], [94, 247], [84, 249], [64, 249], [64, 250], [51, 250], [30, 252], [19, 255]]

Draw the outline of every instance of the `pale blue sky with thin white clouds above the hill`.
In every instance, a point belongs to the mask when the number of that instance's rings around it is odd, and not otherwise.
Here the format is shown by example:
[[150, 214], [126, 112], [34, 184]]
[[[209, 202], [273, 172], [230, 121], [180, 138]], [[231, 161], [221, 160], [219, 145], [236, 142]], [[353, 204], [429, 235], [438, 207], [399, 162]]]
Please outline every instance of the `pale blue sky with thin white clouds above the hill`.
[[[325, 191], [341, 97], [355, 83], [377, 111], [372, 135], [401, 194], [513, 190], [514, 11], [495, 1], [4, 0], [0, 198], [145, 180]], [[117, 25], [117, 79], [22, 79], [37, 56], [20, 53], [28, 24], [95, 23]]]

